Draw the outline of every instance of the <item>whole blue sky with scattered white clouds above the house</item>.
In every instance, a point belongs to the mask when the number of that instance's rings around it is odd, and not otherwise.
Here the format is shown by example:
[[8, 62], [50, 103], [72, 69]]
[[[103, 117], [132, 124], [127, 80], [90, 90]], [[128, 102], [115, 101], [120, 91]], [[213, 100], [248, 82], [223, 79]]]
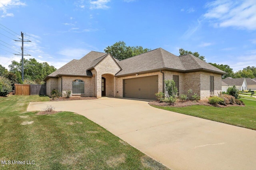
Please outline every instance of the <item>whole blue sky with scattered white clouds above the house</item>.
[[12, 54], [21, 31], [32, 41], [25, 58], [56, 68], [117, 41], [174, 55], [197, 51], [234, 71], [256, 66], [256, 0], [1, 0], [0, 24], [6, 68], [21, 58]]

